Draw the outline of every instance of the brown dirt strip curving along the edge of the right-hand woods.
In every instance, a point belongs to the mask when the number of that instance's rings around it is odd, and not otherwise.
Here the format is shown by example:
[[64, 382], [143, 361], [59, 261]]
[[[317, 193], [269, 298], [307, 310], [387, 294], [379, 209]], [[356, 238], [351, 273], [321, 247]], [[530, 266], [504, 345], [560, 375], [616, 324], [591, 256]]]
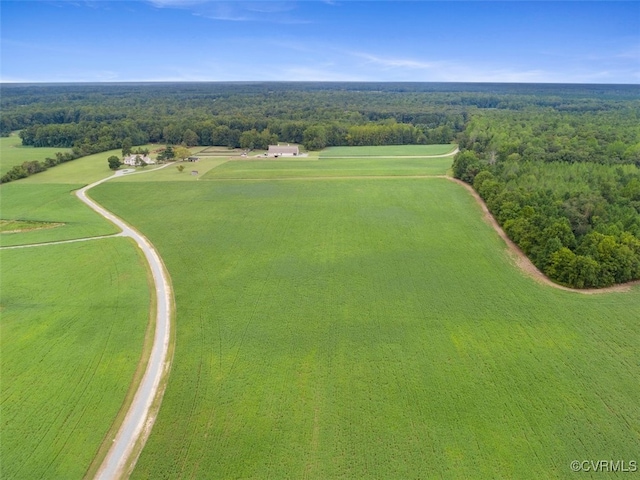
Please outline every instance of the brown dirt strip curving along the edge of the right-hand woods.
[[508, 252], [512, 257], [512, 259], [515, 261], [516, 266], [520, 270], [522, 270], [522, 272], [524, 272], [527, 276], [533, 278], [538, 283], [542, 283], [544, 285], [557, 288], [559, 290], [564, 290], [566, 292], [581, 293], [583, 295], [594, 295], [594, 294], [600, 294], [600, 293], [614, 293], [614, 292], [626, 293], [631, 291], [631, 287], [640, 285], [640, 280], [635, 280], [633, 282], [613, 285], [611, 287], [580, 289], [580, 288], [569, 288], [569, 287], [565, 287], [564, 285], [555, 283], [553, 280], [547, 277], [544, 273], [542, 273], [542, 271], [540, 271], [540, 269], [533, 264], [533, 262], [520, 249], [520, 247], [518, 247], [518, 245], [516, 245], [516, 243], [509, 238], [509, 236], [502, 229], [498, 221], [489, 211], [489, 208], [487, 207], [487, 204], [484, 202], [482, 197], [478, 194], [478, 192], [474, 190], [474, 188], [471, 185], [457, 178], [453, 178], [449, 176], [444, 176], [443, 178], [446, 178], [449, 181], [452, 181], [454, 183], [457, 183], [458, 185], [463, 186], [464, 188], [467, 189], [469, 193], [471, 193], [471, 195], [476, 200], [478, 205], [480, 205], [480, 209], [482, 210], [482, 214], [483, 214], [482, 215], [483, 219], [490, 226], [493, 227], [493, 229], [497, 232], [498, 236], [500, 236], [500, 238], [502, 238], [502, 240], [504, 240], [504, 242], [507, 244]]

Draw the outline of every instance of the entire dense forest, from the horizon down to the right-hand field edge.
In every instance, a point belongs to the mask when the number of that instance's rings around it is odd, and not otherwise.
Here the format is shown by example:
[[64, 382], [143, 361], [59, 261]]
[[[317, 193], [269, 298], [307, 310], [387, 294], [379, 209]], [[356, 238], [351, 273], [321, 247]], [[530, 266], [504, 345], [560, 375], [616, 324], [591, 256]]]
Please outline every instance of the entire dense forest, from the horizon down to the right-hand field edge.
[[453, 173], [550, 278], [640, 278], [640, 86], [455, 83], [2, 85], [0, 134], [72, 148], [2, 182], [147, 143], [247, 149], [457, 142]]

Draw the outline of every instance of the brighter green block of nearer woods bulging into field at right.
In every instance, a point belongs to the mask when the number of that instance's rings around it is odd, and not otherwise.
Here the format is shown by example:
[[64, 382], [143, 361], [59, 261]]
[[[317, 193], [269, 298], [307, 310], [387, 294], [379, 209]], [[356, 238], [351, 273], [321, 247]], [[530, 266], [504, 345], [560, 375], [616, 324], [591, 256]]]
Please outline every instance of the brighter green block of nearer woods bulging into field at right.
[[637, 280], [638, 125], [637, 101], [588, 112], [484, 112], [459, 136], [453, 172], [558, 283], [585, 288]]

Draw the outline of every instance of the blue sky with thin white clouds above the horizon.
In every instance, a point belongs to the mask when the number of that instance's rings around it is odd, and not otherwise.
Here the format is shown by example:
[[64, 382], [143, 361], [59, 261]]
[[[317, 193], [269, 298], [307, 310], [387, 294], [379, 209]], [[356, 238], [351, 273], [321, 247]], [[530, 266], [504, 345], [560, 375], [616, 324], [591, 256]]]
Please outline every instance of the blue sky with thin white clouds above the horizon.
[[0, 1], [0, 81], [640, 83], [640, 2]]

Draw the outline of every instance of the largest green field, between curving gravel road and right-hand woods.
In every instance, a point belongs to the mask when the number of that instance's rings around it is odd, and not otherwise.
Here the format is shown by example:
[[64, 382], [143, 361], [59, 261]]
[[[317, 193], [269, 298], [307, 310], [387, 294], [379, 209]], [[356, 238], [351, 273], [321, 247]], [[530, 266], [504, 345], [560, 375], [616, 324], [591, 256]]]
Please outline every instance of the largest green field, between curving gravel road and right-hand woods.
[[536, 283], [446, 179], [185, 185], [93, 194], [176, 294], [133, 478], [567, 478], [637, 458], [638, 287]]

